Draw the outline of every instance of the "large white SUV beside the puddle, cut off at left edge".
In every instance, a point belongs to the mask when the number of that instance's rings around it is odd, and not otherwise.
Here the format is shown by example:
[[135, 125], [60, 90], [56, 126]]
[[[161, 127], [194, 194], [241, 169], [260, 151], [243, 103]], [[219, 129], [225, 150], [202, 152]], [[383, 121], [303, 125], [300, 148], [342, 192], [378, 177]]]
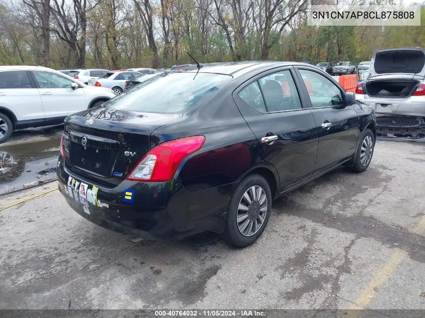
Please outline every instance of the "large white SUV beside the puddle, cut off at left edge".
[[0, 66], [0, 143], [15, 129], [63, 123], [115, 96], [41, 66]]

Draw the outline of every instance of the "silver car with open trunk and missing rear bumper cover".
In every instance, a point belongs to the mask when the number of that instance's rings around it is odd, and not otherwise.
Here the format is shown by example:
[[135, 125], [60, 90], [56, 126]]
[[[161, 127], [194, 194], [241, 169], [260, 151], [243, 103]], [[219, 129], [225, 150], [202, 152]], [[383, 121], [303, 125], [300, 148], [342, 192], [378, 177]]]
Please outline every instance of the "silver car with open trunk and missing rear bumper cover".
[[425, 50], [399, 47], [373, 53], [356, 99], [377, 115], [378, 136], [425, 137]]

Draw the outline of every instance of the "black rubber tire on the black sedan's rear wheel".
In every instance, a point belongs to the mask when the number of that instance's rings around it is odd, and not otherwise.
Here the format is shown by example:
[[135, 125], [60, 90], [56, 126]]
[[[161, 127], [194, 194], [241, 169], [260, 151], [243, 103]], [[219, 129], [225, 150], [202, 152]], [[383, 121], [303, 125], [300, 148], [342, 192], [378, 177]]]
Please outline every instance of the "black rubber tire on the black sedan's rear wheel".
[[[252, 189], [255, 192], [254, 196], [251, 192]], [[257, 196], [259, 194], [260, 199], [258, 200]], [[256, 200], [251, 200], [251, 204], [249, 204], [246, 196], [248, 199], [255, 197]], [[239, 208], [240, 203], [244, 206], [243, 209]], [[250, 174], [244, 177], [230, 199], [223, 233], [227, 244], [235, 247], [245, 247], [254, 243], [263, 234], [269, 222], [271, 206], [272, 191], [266, 179], [259, 174]], [[246, 208], [248, 210], [245, 214]], [[263, 208], [264, 210], [262, 210]], [[246, 218], [242, 219], [243, 217]], [[240, 219], [239, 223], [237, 218]]]

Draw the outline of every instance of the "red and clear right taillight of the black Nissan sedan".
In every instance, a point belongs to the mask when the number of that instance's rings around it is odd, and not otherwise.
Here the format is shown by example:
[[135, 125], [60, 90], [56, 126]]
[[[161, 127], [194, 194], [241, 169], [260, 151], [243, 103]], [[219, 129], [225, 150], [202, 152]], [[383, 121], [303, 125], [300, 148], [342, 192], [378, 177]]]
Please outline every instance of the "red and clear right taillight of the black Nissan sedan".
[[204, 136], [193, 136], [164, 142], [152, 148], [130, 171], [127, 180], [170, 181], [180, 163], [202, 148]]

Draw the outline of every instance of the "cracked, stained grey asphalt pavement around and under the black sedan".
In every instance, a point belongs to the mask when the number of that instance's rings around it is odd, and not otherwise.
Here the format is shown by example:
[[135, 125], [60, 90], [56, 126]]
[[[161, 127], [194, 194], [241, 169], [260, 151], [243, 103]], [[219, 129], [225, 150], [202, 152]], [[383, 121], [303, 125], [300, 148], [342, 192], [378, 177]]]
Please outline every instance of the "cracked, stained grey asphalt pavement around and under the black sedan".
[[[56, 187], [0, 196], [0, 206]], [[425, 144], [381, 140], [366, 172], [338, 168], [275, 200], [244, 249], [213, 233], [134, 244], [53, 191], [0, 211], [0, 308], [423, 310], [424, 206]]]

